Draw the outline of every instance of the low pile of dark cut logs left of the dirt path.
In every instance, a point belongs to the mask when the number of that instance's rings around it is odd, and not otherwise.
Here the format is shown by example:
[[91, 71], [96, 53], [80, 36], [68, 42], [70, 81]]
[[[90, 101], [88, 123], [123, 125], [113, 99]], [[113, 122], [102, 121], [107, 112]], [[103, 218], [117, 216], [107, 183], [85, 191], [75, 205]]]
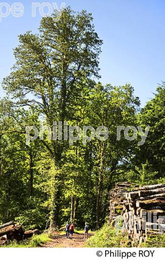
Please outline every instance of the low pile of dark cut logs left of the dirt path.
[[38, 235], [38, 229], [24, 231], [21, 224], [15, 224], [14, 221], [0, 225], [0, 245], [7, 243], [8, 240], [23, 240]]

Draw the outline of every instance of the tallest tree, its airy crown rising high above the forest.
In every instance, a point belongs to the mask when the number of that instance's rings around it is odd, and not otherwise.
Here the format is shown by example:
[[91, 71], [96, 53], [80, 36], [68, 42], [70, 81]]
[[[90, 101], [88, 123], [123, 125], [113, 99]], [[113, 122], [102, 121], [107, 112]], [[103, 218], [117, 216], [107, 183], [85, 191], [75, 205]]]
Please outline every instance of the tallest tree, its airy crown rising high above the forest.
[[[46, 118], [52, 128], [53, 121], [73, 120], [72, 109], [81, 100], [84, 85], [92, 85], [98, 77], [98, 56], [102, 41], [92, 24], [91, 14], [73, 12], [70, 7], [62, 11], [57, 22], [54, 13], [41, 20], [39, 34], [26, 32], [19, 36], [15, 49], [16, 63], [4, 80], [4, 88], [17, 106], [30, 106]], [[63, 129], [62, 129], [63, 131]], [[56, 166], [60, 167], [65, 142], [44, 142]], [[61, 176], [58, 175], [52, 199], [51, 226], [59, 224]]]

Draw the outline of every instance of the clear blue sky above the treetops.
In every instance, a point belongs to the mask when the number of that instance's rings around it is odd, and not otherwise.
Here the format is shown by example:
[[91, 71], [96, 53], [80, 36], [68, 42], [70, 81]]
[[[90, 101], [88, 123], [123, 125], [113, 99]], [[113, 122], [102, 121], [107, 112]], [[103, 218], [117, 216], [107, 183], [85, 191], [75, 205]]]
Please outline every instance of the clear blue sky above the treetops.
[[[13, 48], [18, 35], [27, 30], [37, 32], [39, 9], [32, 17], [31, 3], [56, 3], [75, 11], [91, 12], [98, 36], [104, 41], [100, 59], [103, 84], [130, 83], [142, 106], [153, 97], [157, 83], [165, 81], [165, 1], [164, 0], [45, 0], [4, 1], [10, 6], [20, 2], [24, 15], [11, 14], [0, 22], [0, 81], [10, 73], [14, 63]], [[5, 9], [3, 9], [5, 12]], [[46, 12], [46, 9], [45, 9]], [[0, 95], [3, 96], [0, 89]]]

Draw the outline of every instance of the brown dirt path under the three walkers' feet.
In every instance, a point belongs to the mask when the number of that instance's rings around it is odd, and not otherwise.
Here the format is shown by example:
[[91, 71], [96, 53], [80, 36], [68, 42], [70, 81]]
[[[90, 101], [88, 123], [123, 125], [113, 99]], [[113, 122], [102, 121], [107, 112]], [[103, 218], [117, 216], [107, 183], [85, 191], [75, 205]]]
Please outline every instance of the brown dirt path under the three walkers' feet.
[[[89, 234], [88, 238], [93, 234]], [[84, 235], [83, 234], [74, 234], [72, 239], [65, 238], [62, 236], [54, 236], [51, 238], [51, 241], [43, 245], [45, 248], [53, 248], [53, 247], [73, 247], [79, 248], [83, 247], [85, 244]]]

